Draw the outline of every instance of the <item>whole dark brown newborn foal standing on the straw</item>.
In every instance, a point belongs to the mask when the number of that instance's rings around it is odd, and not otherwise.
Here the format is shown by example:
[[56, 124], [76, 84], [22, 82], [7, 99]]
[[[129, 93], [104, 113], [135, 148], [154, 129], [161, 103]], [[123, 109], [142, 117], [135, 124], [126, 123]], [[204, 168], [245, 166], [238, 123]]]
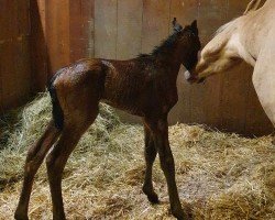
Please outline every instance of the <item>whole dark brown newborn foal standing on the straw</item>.
[[58, 138], [46, 165], [53, 219], [65, 219], [62, 174], [79, 139], [97, 118], [100, 101], [143, 118], [146, 162], [143, 191], [151, 202], [158, 202], [152, 183], [152, 167], [158, 153], [172, 213], [178, 219], [185, 218], [168, 142], [167, 114], [177, 102], [179, 67], [182, 64], [189, 70], [195, 67], [200, 42], [196, 21], [185, 29], [176, 20], [173, 25], [174, 33], [151, 54], [129, 61], [82, 59], [55, 74], [48, 85], [53, 121], [41, 140], [29, 150], [15, 219], [28, 219], [34, 175]]

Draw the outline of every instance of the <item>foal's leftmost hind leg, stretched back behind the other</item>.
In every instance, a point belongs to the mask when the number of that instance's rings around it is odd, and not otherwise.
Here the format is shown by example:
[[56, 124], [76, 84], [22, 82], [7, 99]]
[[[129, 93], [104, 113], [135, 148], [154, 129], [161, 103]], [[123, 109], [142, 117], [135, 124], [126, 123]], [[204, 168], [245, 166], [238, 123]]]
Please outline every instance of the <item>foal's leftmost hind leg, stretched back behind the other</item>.
[[34, 176], [38, 167], [41, 166], [46, 153], [58, 136], [59, 131], [55, 128], [54, 122], [51, 121], [38, 142], [29, 150], [24, 166], [23, 187], [20, 196], [20, 201], [14, 215], [15, 219], [28, 219], [28, 207]]

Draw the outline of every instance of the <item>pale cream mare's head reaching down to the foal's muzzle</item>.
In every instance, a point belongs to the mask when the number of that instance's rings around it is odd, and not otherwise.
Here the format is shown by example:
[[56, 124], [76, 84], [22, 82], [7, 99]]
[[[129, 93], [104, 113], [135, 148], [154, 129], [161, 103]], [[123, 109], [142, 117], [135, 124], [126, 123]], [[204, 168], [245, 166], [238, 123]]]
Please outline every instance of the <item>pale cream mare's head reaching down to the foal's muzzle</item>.
[[[261, 0], [252, 0], [244, 16], [258, 9]], [[213, 38], [204, 47], [195, 69], [186, 72], [185, 77], [189, 82], [201, 82], [208, 76], [227, 72], [240, 64], [242, 59], [253, 65], [254, 57], [244, 48], [240, 41], [240, 24], [243, 16], [222, 25]]]

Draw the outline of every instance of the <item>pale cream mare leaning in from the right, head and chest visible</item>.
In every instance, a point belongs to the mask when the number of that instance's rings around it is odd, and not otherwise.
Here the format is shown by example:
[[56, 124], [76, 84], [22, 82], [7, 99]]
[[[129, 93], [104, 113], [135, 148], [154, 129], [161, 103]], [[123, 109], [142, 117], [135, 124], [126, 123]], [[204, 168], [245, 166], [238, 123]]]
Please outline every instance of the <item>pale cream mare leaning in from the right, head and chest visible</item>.
[[200, 82], [245, 61], [254, 67], [253, 85], [275, 127], [275, 0], [257, 9], [260, 4], [261, 0], [251, 1], [242, 16], [217, 31], [201, 51], [196, 69], [186, 73], [186, 79]]

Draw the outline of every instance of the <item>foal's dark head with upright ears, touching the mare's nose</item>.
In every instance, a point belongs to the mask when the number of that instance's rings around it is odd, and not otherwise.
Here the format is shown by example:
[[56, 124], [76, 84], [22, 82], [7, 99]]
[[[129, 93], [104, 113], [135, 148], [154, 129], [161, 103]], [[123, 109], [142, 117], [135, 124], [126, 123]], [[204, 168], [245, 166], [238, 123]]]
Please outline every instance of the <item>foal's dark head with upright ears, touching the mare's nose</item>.
[[186, 69], [195, 69], [198, 63], [198, 53], [201, 48], [197, 21], [195, 20], [190, 25], [183, 28], [174, 19], [173, 31], [173, 35], [177, 38], [175, 59], [179, 61]]

